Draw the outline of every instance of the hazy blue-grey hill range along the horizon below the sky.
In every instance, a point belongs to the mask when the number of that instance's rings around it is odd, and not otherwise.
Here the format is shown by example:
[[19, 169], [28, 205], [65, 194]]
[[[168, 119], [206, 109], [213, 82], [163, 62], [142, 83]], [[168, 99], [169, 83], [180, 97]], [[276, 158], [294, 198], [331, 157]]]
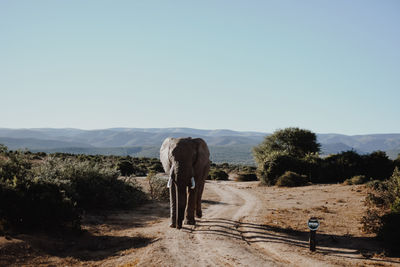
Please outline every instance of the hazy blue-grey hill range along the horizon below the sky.
[[[0, 143], [11, 150], [158, 157], [165, 138], [191, 136], [203, 138], [208, 143], [213, 162], [254, 164], [251, 148], [262, 142], [266, 135], [268, 133], [192, 128], [0, 128]], [[347, 150], [358, 153], [382, 150], [395, 158], [400, 153], [400, 134], [317, 134], [317, 138], [325, 155]]]

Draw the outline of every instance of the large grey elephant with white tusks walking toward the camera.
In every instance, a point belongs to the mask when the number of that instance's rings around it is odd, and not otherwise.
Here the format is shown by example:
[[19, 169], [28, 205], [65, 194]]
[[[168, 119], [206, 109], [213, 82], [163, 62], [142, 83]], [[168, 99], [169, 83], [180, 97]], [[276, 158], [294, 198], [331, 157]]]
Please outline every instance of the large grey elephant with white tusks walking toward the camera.
[[170, 184], [170, 227], [182, 228], [185, 210], [188, 225], [195, 225], [195, 212], [196, 217], [202, 217], [201, 197], [210, 170], [209, 158], [208, 146], [201, 138], [167, 138], [161, 145], [160, 160]]

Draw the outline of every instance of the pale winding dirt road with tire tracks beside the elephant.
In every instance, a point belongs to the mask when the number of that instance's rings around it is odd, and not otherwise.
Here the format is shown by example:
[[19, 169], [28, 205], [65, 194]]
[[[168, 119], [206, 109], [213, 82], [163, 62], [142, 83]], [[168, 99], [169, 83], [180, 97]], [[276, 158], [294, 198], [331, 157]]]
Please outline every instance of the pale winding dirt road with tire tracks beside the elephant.
[[[281, 266], [279, 260], [251, 247], [242, 225], [260, 208], [254, 196], [224, 183], [208, 183], [210, 204], [196, 226], [168, 229], [158, 246], [143, 259], [145, 265], [159, 266]], [[164, 224], [163, 227], [165, 227]], [[160, 251], [165, 255], [160, 255]], [[160, 257], [161, 256], [161, 257]], [[162, 259], [168, 259], [164, 261]]]

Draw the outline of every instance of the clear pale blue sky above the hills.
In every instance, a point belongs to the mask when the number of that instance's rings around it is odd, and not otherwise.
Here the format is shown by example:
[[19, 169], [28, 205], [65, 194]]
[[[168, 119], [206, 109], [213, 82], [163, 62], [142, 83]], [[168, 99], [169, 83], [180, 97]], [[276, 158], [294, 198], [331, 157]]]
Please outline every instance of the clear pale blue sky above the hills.
[[0, 127], [400, 133], [400, 1], [0, 1]]

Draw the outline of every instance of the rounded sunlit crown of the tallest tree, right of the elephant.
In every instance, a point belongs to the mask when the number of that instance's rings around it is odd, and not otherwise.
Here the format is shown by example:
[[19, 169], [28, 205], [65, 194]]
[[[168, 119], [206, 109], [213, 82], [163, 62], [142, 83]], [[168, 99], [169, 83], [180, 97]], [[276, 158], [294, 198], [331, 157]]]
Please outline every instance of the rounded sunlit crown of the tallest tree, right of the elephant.
[[264, 141], [253, 148], [257, 163], [263, 164], [272, 152], [284, 152], [295, 158], [303, 158], [310, 153], [320, 152], [315, 133], [300, 128], [285, 128], [266, 136]]

